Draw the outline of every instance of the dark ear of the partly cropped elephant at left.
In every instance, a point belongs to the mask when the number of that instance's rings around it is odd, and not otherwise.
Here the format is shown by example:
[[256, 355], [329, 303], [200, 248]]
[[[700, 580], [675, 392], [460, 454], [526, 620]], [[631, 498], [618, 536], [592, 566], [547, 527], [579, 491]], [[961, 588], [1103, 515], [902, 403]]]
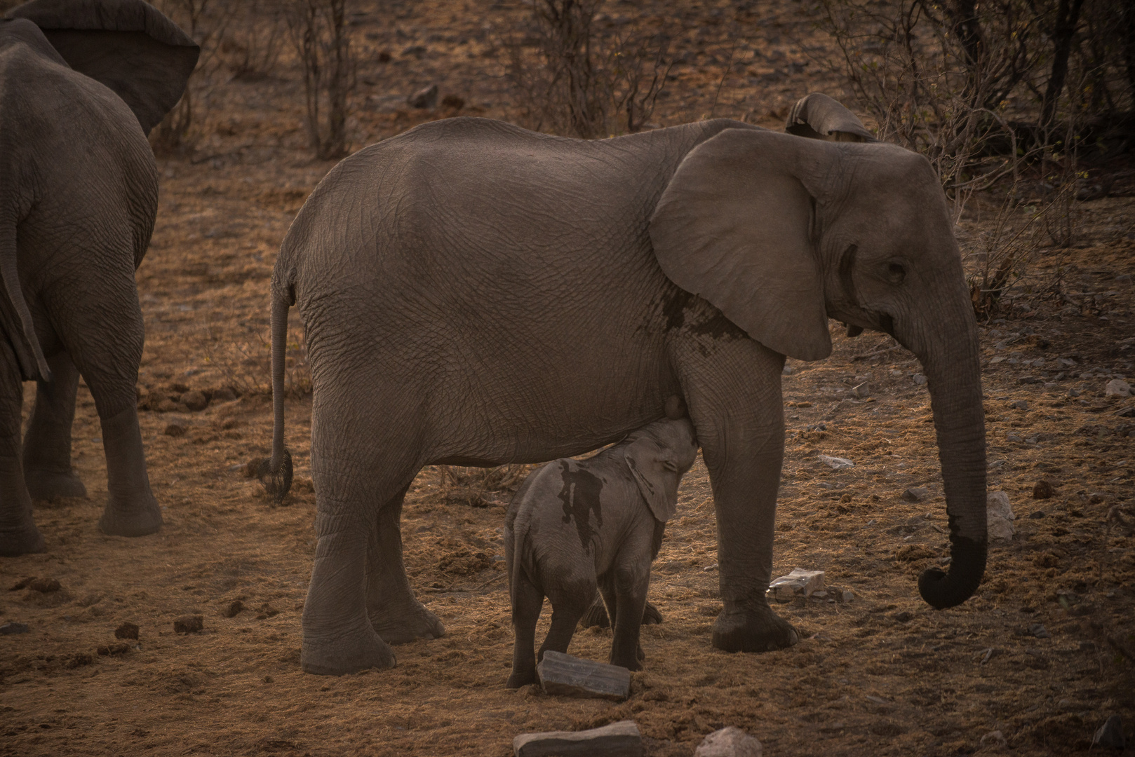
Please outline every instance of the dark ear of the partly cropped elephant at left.
[[142, 0], [32, 0], [7, 16], [35, 23], [72, 68], [125, 100], [146, 134], [177, 103], [201, 53]]

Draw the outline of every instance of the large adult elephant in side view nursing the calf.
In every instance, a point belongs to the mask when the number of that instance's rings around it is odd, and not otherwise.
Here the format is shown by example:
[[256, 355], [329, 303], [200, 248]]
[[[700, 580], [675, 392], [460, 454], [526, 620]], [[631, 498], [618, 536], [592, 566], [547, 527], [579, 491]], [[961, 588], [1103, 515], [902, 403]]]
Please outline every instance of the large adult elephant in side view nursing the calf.
[[829, 318], [892, 334], [923, 361], [953, 560], [919, 588], [934, 607], [973, 594], [985, 565], [984, 421], [942, 190], [913, 152], [838, 141], [871, 135], [839, 103], [809, 102], [794, 126], [826, 138], [709, 120], [587, 142], [455, 118], [327, 175], [272, 275], [277, 493], [291, 469], [291, 304], [314, 387], [305, 671], [389, 666], [388, 642], [444, 632], [402, 563], [403, 496], [422, 465], [581, 454], [661, 418], [673, 395], [713, 486], [724, 600], [713, 644], [794, 644], [765, 600], [781, 369], [785, 355], [831, 352]]

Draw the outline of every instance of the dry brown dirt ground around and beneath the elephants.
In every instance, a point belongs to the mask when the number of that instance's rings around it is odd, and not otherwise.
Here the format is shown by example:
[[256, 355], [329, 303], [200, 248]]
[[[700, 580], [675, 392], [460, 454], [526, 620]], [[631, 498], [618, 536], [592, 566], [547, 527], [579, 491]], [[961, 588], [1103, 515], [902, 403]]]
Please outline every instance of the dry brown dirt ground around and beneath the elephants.
[[[612, 7], [630, 12], [628, 3]], [[384, 8], [363, 5], [355, 17], [364, 53], [356, 146], [453, 115], [398, 104], [430, 82], [462, 96], [464, 115], [508, 116], [490, 53], [494, 30], [521, 12], [518, 3]], [[661, 125], [713, 111], [780, 127], [798, 96], [838, 93], [808, 72], [797, 40], [818, 42], [794, 3], [749, 11], [683, 2], [673, 15], [689, 30], [680, 41], [690, 56], [661, 101]], [[380, 51], [389, 62], [378, 62]], [[745, 62], [722, 82], [730, 57]], [[948, 554], [919, 367], [889, 337], [849, 339], [833, 323], [832, 358], [790, 361], [783, 380], [789, 439], [774, 574], [823, 569], [834, 587], [825, 598], [777, 605], [801, 631], [796, 647], [712, 648], [715, 520], [699, 462], [655, 564], [650, 592], [665, 620], [644, 630], [648, 659], [630, 700], [508, 691], [499, 560], [508, 491], [443, 486], [442, 472], [427, 469], [404, 511], [406, 562], [448, 634], [397, 647], [392, 671], [303, 674], [314, 494], [299, 350], [287, 405], [294, 494], [270, 506], [243, 476], [271, 436], [275, 251], [331, 167], [304, 150], [300, 93], [286, 58], [270, 78], [218, 86], [195, 150], [159, 160], [158, 226], [138, 271], [148, 330], [140, 404], [166, 522], [140, 539], [99, 533], [106, 466], [81, 388], [74, 454], [90, 496], [37, 503], [47, 550], [0, 562], [0, 619], [30, 626], [0, 637], [0, 752], [503, 756], [521, 732], [627, 717], [648, 755], [690, 755], [730, 724], [756, 735], [766, 755], [1086, 754], [1110, 714], [1124, 717], [1130, 739], [1135, 528], [1113, 508], [1133, 504], [1135, 399], [1103, 396], [1110, 378], [1135, 376], [1135, 200], [1121, 160], [1092, 169], [1120, 178], [1110, 196], [1076, 207], [1074, 246], [1040, 259], [1039, 274], [1059, 267], [1068, 296], [1024, 298], [982, 326], [990, 489], [1008, 494], [1017, 535], [992, 547], [985, 581], [962, 606], [932, 611], [915, 583]], [[851, 392], [863, 381], [867, 397]], [[192, 390], [212, 398], [205, 410], [188, 410]], [[855, 468], [833, 471], [819, 454]], [[1033, 498], [1039, 481], [1051, 497]], [[901, 499], [908, 487], [927, 489], [925, 499]], [[7, 590], [32, 577], [60, 588]], [[203, 630], [175, 633], [185, 614], [202, 615]], [[124, 622], [140, 628], [136, 644], [115, 638]], [[580, 631], [572, 653], [605, 659], [609, 641], [609, 631]], [[994, 730], [1007, 746], [982, 741]]]

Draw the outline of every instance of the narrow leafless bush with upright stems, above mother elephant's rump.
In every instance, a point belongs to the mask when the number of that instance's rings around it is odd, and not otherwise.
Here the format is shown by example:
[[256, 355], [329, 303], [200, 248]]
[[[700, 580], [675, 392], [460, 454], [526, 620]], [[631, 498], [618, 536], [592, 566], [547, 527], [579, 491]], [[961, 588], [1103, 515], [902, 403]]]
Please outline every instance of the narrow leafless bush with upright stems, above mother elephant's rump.
[[286, 22], [303, 68], [308, 144], [321, 160], [347, 153], [347, 95], [355, 59], [346, 0], [289, 0]]

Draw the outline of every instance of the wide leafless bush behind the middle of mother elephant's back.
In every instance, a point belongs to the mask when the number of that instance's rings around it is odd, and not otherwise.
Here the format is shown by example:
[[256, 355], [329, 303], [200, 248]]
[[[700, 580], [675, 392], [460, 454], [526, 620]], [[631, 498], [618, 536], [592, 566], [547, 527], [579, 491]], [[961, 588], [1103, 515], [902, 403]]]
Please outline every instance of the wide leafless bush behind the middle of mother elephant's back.
[[598, 19], [604, 0], [531, 0], [527, 27], [501, 43], [519, 120], [602, 137], [641, 131], [673, 65], [665, 35]]

